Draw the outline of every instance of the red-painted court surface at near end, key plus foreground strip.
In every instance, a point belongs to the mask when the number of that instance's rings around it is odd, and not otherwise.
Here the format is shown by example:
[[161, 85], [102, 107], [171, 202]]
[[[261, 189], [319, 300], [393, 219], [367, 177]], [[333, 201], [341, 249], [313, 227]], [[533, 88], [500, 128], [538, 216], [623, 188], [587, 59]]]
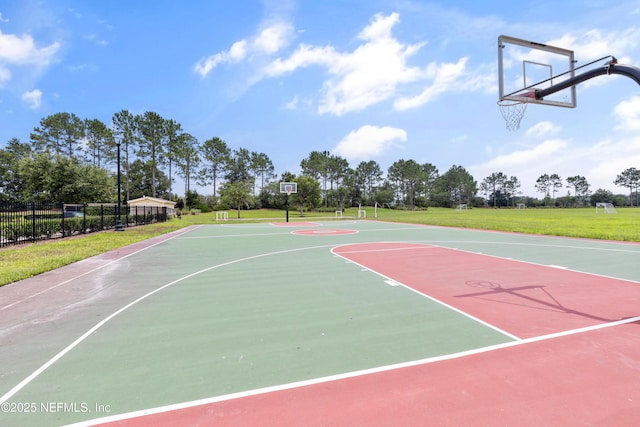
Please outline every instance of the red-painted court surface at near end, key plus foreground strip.
[[151, 409], [106, 425], [638, 425], [637, 283], [420, 244], [346, 245], [333, 252], [515, 339]]

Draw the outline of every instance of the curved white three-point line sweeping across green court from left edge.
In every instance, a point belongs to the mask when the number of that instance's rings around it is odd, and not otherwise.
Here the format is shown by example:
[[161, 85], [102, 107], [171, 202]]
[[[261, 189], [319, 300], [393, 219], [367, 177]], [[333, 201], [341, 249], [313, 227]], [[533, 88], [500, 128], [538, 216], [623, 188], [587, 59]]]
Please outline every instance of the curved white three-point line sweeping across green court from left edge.
[[239, 263], [239, 262], [244, 262], [244, 261], [257, 259], [257, 258], [263, 258], [263, 257], [267, 257], [267, 256], [272, 256], [272, 255], [279, 255], [279, 254], [284, 254], [284, 253], [298, 252], [298, 251], [309, 250], [309, 249], [326, 248], [326, 247], [332, 247], [332, 246], [333, 245], [312, 246], [312, 247], [306, 247], [306, 248], [287, 249], [287, 250], [282, 250], [282, 251], [269, 252], [269, 253], [265, 253], [265, 254], [252, 255], [250, 257], [240, 258], [240, 259], [236, 259], [236, 260], [233, 260], [233, 261], [228, 261], [228, 262], [225, 262], [225, 263], [222, 263], [222, 264], [217, 264], [217, 265], [214, 265], [214, 266], [211, 266], [211, 267], [207, 267], [205, 269], [196, 271], [194, 273], [191, 273], [191, 274], [183, 276], [183, 277], [181, 277], [179, 279], [176, 279], [176, 280], [174, 280], [172, 282], [169, 282], [169, 283], [167, 283], [167, 284], [165, 284], [163, 286], [160, 286], [159, 288], [156, 288], [153, 291], [148, 292], [145, 295], [137, 298], [136, 300], [130, 302], [129, 304], [125, 305], [124, 307], [122, 307], [119, 310], [115, 311], [114, 313], [110, 314], [109, 316], [104, 318], [102, 321], [98, 322], [91, 329], [89, 329], [87, 332], [82, 334], [78, 339], [76, 339], [74, 342], [69, 344], [67, 347], [65, 347], [63, 350], [61, 350], [58, 354], [53, 356], [51, 359], [49, 359], [47, 362], [45, 362], [42, 366], [40, 366], [38, 369], [36, 369], [33, 373], [31, 373], [31, 375], [29, 375], [24, 380], [20, 381], [20, 383], [18, 383], [15, 387], [13, 387], [11, 390], [9, 390], [7, 393], [5, 393], [2, 397], [0, 397], [0, 404], [5, 403], [14, 394], [16, 394], [17, 392], [22, 390], [24, 387], [26, 387], [31, 381], [36, 379], [40, 374], [42, 374], [49, 367], [51, 367], [51, 365], [53, 365], [55, 362], [60, 360], [63, 356], [65, 356], [67, 353], [69, 353], [71, 350], [73, 350], [75, 347], [77, 347], [87, 337], [89, 337], [95, 331], [100, 329], [102, 326], [104, 326], [111, 319], [113, 319], [114, 317], [118, 316], [119, 314], [121, 314], [122, 312], [126, 311], [127, 309], [133, 307], [137, 303], [139, 303], [141, 301], [144, 301], [145, 299], [147, 299], [151, 295], [153, 295], [153, 294], [155, 294], [157, 292], [160, 292], [163, 289], [166, 289], [166, 288], [168, 288], [168, 287], [170, 287], [172, 285], [175, 285], [176, 283], [180, 283], [180, 282], [182, 282], [182, 281], [184, 281], [186, 279], [189, 279], [191, 277], [197, 276], [198, 274], [206, 273], [207, 271], [211, 271], [211, 270], [216, 269], [216, 268], [220, 268], [220, 267], [225, 267], [225, 266], [228, 266], [228, 265], [236, 264], [236, 263]]

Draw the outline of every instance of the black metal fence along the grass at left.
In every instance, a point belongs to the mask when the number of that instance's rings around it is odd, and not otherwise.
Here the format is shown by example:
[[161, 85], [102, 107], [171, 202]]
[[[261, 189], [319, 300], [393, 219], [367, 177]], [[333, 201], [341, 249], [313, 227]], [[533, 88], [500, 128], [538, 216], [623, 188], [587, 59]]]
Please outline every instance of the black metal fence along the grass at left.
[[[125, 227], [165, 222], [167, 208], [122, 205]], [[58, 239], [115, 228], [116, 204], [62, 204], [0, 202], [0, 247]]]

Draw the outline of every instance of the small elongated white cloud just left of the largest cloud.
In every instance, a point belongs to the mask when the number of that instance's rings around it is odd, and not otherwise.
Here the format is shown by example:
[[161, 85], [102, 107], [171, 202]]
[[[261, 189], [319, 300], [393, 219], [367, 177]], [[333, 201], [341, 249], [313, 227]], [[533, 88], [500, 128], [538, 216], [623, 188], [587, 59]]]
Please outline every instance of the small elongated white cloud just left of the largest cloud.
[[200, 59], [194, 70], [206, 77], [211, 70], [221, 64], [234, 64], [255, 56], [270, 56], [287, 46], [293, 36], [293, 27], [279, 22], [262, 29], [249, 40], [239, 40], [229, 50], [218, 52]]

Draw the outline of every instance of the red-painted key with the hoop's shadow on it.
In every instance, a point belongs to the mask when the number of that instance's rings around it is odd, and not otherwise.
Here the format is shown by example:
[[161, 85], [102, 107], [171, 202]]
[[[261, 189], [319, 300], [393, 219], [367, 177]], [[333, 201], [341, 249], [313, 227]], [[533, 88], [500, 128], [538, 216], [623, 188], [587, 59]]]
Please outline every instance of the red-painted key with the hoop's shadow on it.
[[620, 279], [419, 244], [348, 245], [334, 253], [519, 338], [640, 313], [640, 286]]

